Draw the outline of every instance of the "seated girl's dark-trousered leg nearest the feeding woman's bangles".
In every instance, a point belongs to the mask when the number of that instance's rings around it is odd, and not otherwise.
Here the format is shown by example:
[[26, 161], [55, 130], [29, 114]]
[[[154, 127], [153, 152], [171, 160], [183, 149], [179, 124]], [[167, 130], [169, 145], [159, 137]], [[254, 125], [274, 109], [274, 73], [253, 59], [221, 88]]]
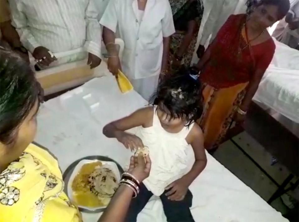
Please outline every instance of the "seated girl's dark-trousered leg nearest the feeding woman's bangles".
[[131, 200], [125, 221], [135, 222], [137, 220], [137, 215], [145, 207], [152, 195], [152, 192], [148, 191], [143, 184], [140, 184], [140, 192], [136, 198]]

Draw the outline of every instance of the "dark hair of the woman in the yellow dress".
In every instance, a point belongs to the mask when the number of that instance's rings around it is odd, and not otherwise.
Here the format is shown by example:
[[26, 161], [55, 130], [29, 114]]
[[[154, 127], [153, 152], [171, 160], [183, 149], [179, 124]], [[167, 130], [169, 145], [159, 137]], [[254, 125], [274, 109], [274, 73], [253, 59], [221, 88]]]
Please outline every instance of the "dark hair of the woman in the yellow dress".
[[14, 142], [18, 127], [33, 108], [39, 84], [30, 66], [11, 51], [0, 53], [0, 141]]

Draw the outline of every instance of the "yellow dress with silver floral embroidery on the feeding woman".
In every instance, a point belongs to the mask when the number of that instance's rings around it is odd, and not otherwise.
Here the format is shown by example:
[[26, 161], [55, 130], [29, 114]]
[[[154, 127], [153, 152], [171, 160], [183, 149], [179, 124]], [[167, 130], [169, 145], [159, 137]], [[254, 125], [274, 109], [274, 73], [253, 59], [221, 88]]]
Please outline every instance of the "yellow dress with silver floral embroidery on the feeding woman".
[[58, 162], [30, 144], [0, 174], [0, 222], [82, 221], [63, 189]]

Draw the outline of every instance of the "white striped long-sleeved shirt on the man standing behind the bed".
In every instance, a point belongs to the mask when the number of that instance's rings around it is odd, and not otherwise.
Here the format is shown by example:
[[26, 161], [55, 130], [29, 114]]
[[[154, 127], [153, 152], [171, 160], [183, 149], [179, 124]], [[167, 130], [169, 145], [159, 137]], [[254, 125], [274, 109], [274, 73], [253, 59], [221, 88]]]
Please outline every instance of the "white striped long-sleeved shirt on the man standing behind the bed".
[[80, 47], [101, 56], [101, 27], [93, 0], [9, 0], [12, 24], [31, 53], [44, 46], [53, 53]]

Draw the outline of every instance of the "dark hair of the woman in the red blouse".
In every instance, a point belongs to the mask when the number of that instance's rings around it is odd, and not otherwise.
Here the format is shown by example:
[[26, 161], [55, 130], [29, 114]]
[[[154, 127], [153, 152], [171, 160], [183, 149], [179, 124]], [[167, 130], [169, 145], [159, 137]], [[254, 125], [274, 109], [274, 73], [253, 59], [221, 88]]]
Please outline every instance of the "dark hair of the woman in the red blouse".
[[278, 20], [281, 20], [286, 16], [287, 12], [290, 10], [289, 0], [247, 0], [247, 13], [251, 13], [255, 7], [260, 5], [274, 5], [278, 7]]

